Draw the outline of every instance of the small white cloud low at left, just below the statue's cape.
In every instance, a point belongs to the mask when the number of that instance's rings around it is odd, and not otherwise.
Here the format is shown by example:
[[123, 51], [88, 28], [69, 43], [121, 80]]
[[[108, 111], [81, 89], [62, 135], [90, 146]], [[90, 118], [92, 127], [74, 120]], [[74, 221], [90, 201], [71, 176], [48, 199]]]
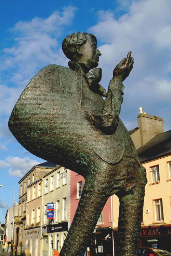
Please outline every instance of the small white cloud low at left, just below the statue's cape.
[[36, 164], [39, 164], [39, 162], [29, 157], [20, 158], [10, 156], [5, 160], [0, 160], [0, 168], [9, 167], [9, 175], [18, 177], [23, 177]]

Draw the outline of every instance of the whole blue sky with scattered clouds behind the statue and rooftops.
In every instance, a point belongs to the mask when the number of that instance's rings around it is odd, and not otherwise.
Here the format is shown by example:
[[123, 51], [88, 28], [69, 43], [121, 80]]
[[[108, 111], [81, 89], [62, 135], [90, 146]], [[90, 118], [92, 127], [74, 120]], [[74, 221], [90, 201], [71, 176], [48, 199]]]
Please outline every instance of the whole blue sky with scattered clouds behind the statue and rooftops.
[[[31, 155], [8, 130], [8, 119], [30, 79], [48, 64], [67, 66], [61, 43], [74, 32], [89, 32], [102, 53], [101, 84], [132, 51], [134, 68], [124, 81], [120, 117], [137, 126], [139, 107], [171, 129], [171, 1], [0, 1], [0, 184], [13, 187], [44, 160]], [[13, 192], [0, 187], [0, 221], [13, 204]]]

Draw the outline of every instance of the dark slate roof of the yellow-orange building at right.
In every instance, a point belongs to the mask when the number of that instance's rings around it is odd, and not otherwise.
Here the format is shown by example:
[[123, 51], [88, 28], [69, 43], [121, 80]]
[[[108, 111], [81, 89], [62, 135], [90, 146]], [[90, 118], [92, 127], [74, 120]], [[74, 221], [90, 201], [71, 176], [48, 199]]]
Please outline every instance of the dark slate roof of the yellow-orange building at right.
[[147, 162], [171, 154], [171, 130], [154, 136], [137, 149], [140, 162]]

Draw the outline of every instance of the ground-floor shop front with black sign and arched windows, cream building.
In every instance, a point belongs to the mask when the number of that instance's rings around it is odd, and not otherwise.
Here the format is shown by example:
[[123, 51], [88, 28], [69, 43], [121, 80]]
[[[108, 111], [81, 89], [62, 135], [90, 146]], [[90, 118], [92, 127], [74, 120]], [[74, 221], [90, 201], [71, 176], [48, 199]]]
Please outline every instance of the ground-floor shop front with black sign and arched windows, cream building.
[[[44, 240], [48, 241], [47, 251], [49, 256], [53, 256], [53, 249], [56, 249], [58, 252], [61, 251], [61, 248], [64, 244], [68, 233], [68, 222], [60, 222], [56, 224], [47, 225], [47, 236], [44, 233]], [[45, 254], [44, 254], [45, 255]]]

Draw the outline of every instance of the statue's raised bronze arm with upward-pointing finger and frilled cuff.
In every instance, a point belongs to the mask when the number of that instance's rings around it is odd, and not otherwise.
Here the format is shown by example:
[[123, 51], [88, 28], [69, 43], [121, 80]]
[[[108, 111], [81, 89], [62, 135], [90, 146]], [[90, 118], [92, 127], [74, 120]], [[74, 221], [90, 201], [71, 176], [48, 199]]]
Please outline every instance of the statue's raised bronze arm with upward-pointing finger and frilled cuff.
[[123, 102], [122, 82], [126, 79], [133, 68], [133, 58], [131, 52], [127, 59], [124, 58], [114, 69], [113, 79], [110, 80], [104, 107], [100, 115], [89, 116], [89, 121], [104, 133], [114, 133], [119, 121], [121, 104]]

